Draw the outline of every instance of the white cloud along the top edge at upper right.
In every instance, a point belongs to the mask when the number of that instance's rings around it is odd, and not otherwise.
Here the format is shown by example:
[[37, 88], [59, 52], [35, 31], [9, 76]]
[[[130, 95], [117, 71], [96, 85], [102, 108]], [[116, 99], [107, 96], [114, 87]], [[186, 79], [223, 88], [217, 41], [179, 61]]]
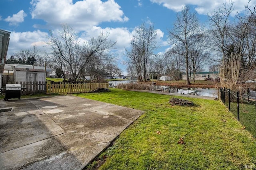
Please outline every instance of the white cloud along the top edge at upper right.
[[[161, 4], [170, 10], [179, 12], [186, 4], [196, 6], [195, 10], [198, 14], [207, 14], [213, 12], [218, 6], [221, 6], [225, 0], [150, 0], [153, 3]], [[228, 1], [227, 1], [228, 2]], [[242, 12], [248, 0], [232, 0], [234, 2], [234, 11]], [[250, 4], [256, 4], [256, 0], [252, 0]]]

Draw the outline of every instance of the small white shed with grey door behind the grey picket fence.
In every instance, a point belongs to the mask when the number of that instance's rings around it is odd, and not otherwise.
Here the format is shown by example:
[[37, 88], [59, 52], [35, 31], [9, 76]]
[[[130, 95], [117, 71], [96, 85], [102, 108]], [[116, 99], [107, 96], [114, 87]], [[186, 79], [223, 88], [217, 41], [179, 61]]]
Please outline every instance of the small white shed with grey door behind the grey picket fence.
[[14, 82], [45, 82], [46, 72], [42, 69], [14, 68]]

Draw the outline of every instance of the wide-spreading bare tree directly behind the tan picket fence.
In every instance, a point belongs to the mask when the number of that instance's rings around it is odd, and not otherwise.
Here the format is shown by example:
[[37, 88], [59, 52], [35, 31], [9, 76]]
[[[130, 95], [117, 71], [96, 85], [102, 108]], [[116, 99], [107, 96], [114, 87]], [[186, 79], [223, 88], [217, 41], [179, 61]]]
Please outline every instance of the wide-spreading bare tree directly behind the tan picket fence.
[[76, 81], [91, 59], [95, 61], [95, 57], [108, 56], [109, 50], [116, 45], [116, 42], [108, 40], [108, 35], [108, 33], [106, 35], [100, 33], [98, 37], [92, 37], [80, 46], [78, 35], [74, 30], [67, 25], [62, 25], [62, 31], [59, 31], [57, 36], [50, 31], [50, 37], [48, 37], [53, 60], [58, 62], [63, 73], [68, 69], [73, 80]]

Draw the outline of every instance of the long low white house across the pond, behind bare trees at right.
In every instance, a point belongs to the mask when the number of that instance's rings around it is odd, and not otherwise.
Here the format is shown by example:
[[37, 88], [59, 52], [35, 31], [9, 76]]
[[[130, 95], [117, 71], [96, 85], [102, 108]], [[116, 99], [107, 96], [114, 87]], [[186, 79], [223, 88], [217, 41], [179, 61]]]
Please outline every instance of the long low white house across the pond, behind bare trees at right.
[[[193, 73], [191, 73], [191, 80], [193, 80]], [[219, 72], [214, 71], [214, 72], [196, 72], [195, 73], [195, 80], [204, 80], [206, 78], [218, 78], [219, 77]], [[188, 78], [190, 79], [190, 73], [188, 74]], [[186, 73], [182, 74], [182, 80], [187, 80]]]

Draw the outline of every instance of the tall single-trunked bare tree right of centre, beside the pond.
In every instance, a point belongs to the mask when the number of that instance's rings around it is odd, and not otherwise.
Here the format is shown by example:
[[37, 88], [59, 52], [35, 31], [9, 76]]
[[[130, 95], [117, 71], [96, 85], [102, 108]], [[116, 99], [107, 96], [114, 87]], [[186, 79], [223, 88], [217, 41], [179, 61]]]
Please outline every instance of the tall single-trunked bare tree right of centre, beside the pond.
[[[190, 84], [188, 78], [188, 57], [189, 47], [193, 43], [192, 37], [202, 31], [196, 17], [196, 12], [190, 12], [188, 5], [184, 6], [180, 13], [176, 15], [174, 28], [169, 31], [169, 43], [173, 44], [176, 48], [180, 48], [180, 55], [184, 56], [186, 63], [186, 79], [187, 84]], [[178, 53], [178, 52], [177, 52]]]

